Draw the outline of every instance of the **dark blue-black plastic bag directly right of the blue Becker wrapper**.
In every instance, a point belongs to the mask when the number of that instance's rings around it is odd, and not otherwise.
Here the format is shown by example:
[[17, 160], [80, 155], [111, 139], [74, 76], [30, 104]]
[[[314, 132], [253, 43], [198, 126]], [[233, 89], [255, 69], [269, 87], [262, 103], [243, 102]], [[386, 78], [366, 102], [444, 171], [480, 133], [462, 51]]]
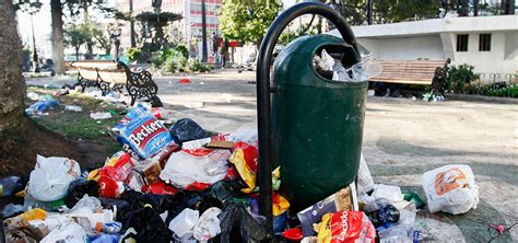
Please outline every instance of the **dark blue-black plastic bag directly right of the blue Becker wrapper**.
[[170, 127], [170, 135], [175, 139], [175, 142], [181, 144], [181, 142], [207, 138], [207, 132], [200, 127], [195, 120], [189, 118], [179, 119]]

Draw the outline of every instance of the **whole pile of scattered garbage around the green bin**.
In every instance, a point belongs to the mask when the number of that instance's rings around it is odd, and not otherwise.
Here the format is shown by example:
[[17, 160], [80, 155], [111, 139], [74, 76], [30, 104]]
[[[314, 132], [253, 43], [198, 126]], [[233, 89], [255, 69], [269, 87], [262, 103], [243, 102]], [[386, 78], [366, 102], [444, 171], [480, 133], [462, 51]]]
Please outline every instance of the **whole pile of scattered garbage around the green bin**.
[[[160, 114], [158, 114], [160, 115]], [[104, 166], [38, 155], [28, 182], [3, 178], [2, 197], [23, 197], [1, 211], [7, 242], [411, 242], [424, 201], [397, 186], [374, 185], [364, 160], [356, 184], [302, 211], [276, 190], [273, 232], [259, 216], [256, 129], [211, 135], [192, 119], [165, 127], [139, 104], [111, 128], [122, 150]], [[467, 165], [423, 176], [428, 208], [463, 213], [478, 204]], [[356, 196], [358, 195], [358, 196]], [[417, 233], [416, 233], [417, 232]]]

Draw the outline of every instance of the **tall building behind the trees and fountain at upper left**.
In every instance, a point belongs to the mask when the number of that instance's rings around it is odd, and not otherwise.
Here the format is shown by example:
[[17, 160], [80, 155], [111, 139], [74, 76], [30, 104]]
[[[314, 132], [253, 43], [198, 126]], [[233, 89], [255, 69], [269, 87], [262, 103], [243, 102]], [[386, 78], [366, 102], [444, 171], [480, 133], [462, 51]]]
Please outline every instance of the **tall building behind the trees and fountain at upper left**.
[[[190, 47], [193, 55], [201, 56], [202, 43], [202, 0], [163, 0], [162, 12], [173, 12], [180, 14], [184, 19], [170, 24], [165, 28], [166, 35], [173, 42], [185, 43]], [[151, 1], [132, 0], [133, 13], [153, 12]], [[212, 50], [212, 33], [219, 33], [219, 10], [222, 0], [205, 0], [205, 28], [207, 28], [207, 44], [209, 54]], [[129, 12], [130, 0], [116, 0], [115, 8], [121, 12]], [[140, 34], [139, 23], [136, 23], [136, 33]], [[121, 48], [126, 49], [131, 46], [130, 27], [126, 24], [122, 27]]]

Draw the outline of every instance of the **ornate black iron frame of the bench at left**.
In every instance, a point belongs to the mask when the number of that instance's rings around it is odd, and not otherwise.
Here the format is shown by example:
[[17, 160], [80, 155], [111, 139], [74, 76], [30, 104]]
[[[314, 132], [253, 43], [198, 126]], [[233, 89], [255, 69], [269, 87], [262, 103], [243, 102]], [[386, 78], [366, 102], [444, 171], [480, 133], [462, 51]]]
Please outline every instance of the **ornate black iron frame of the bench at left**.
[[[73, 63], [71, 66], [73, 67]], [[97, 73], [96, 80], [90, 80], [81, 76], [81, 67], [78, 67], [78, 84], [81, 85], [81, 92], [89, 86], [98, 88], [102, 91], [103, 96], [108, 94], [109, 91], [116, 91], [119, 93], [123, 93], [122, 89], [126, 88], [128, 95], [131, 97], [131, 105], [138, 99], [141, 97], [149, 97], [150, 100], [158, 99], [158, 86], [153, 81], [153, 78], [149, 71], [140, 71], [133, 72], [129, 69], [127, 65], [119, 61], [117, 63], [117, 69], [99, 69], [99, 68], [87, 68], [92, 71], [95, 70]], [[126, 83], [111, 83], [103, 80], [101, 78], [99, 72], [120, 72], [123, 71], [126, 73]]]

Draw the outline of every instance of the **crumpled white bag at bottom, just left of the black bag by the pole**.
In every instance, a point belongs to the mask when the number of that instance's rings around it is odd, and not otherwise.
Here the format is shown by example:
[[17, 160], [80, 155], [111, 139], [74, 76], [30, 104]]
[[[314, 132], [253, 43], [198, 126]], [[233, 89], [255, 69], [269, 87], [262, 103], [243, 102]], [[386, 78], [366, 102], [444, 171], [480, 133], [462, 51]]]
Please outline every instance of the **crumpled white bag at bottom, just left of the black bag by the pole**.
[[208, 241], [221, 232], [220, 219], [217, 218], [221, 212], [221, 209], [212, 207], [200, 216], [193, 229], [196, 240]]

